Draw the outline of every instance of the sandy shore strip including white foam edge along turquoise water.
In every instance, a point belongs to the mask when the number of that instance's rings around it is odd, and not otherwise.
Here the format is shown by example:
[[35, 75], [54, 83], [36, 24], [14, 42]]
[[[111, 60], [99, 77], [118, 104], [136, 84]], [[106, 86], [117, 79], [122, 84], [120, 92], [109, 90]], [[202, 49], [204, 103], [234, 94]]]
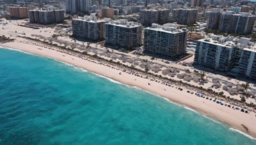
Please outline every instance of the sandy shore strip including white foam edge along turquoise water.
[[[169, 102], [172, 102], [179, 106], [182, 106], [185, 109], [196, 111], [196, 113], [204, 116], [205, 118], [209, 117], [208, 119], [214, 120], [214, 121], [220, 120], [221, 121], [220, 123], [225, 123], [225, 125], [228, 125], [229, 129], [232, 128], [233, 131], [235, 130], [236, 132], [239, 132], [243, 135], [246, 134], [245, 136], [249, 137], [250, 139], [256, 139], [256, 138], [253, 138], [253, 137], [256, 137], [256, 124], [255, 124], [256, 118], [255, 116], [252, 115], [254, 113], [245, 114], [225, 106], [220, 106], [219, 104], [216, 104], [216, 102], [212, 102], [209, 100], [207, 101], [205, 99], [202, 99], [200, 97], [196, 97], [195, 95], [187, 93], [185, 89], [182, 92], [180, 92], [175, 88], [169, 87], [168, 89], [166, 89], [167, 91], [164, 91], [164, 88], [166, 88], [166, 86], [156, 83], [154, 81], [152, 82], [152, 81], [149, 81], [148, 79], [140, 78], [138, 76], [131, 76], [131, 75], [129, 76], [129, 74], [126, 74], [125, 72], [122, 72], [122, 75], [120, 76], [118, 74], [120, 72], [119, 70], [117, 71], [115, 69], [111, 69], [111, 67], [101, 65], [102, 68], [108, 69], [106, 72], [104, 72], [102, 71], [104, 69], [100, 69], [101, 68], [100, 64], [93, 64], [92, 62], [90, 63], [88, 60], [83, 60], [83, 59], [78, 60], [79, 62], [76, 62], [76, 60], [79, 58], [74, 57], [72, 55], [68, 56], [66, 53], [65, 55], [67, 56], [63, 58], [62, 56], [64, 53], [57, 52], [55, 50], [49, 50], [47, 48], [42, 48], [42, 50], [38, 50], [40, 46], [25, 45], [23, 43], [13, 42], [13, 43], [0, 44], [0, 48], [1, 47], [40, 56], [40, 57], [47, 57], [49, 59], [54, 59], [58, 62], [62, 62], [64, 64], [77, 67], [78, 69], [82, 69], [83, 71], [92, 72], [95, 75], [99, 75], [102, 78], [111, 79], [113, 80], [114, 83], [121, 83], [123, 85], [130, 86], [132, 88], [137, 88], [139, 90], [143, 90], [145, 92], [154, 94], [157, 97], [163, 97], [163, 99], [166, 99]], [[112, 74], [112, 72], [114, 73]], [[134, 81], [134, 78], [135, 80], [138, 79], [138, 81]], [[148, 82], [150, 82], [152, 85], [148, 85], [147, 84]], [[156, 88], [152, 88], [152, 86], [153, 87], [155, 86]], [[161, 88], [161, 90], [159, 88]], [[254, 117], [254, 118], [250, 120], [251, 117], [252, 118]], [[244, 128], [241, 126], [241, 124], [246, 125], [246, 127], [249, 128], [249, 132], [246, 133]]]

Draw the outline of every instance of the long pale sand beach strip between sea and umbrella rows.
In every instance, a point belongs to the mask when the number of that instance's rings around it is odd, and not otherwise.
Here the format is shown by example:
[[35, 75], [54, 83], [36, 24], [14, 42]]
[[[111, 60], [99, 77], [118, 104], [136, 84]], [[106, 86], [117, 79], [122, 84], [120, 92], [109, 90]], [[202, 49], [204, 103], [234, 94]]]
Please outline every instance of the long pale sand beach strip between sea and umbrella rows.
[[[58, 49], [50, 49], [49, 46], [31, 45], [29, 43], [24, 43], [24, 40], [25, 39], [19, 38], [12, 43], [4, 43], [0, 44], [0, 46], [32, 53], [34, 55], [40, 55], [42, 57], [50, 57], [76, 67], [81, 67], [87, 71], [100, 74], [101, 76], [111, 78], [120, 83], [124, 83], [125, 85], [136, 86], [142, 90], [146, 90], [147, 92], [169, 99], [172, 102], [188, 106], [202, 114], [212, 116], [212, 118], [223, 121], [232, 128], [241, 130], [252, 137], [256, 137], [256, 116], [253, 112], [246, 114], [241, 111], [237, 111], [236, 109], [216, 104], [216, 102], [213, 102], [212, 100], [196, 97], [195, 93], [187, 93], [188, 90], [186, 88], [183, 88], [183, 90], [180, 91], [176, 88], [177, 86], [171, 87], [163, 83], [156, 82], [156, 80], [152, 81], [145, 78], [143, 74], [136, 76], [131, 72], [124, 72], [124, 68], [122, 67], [116, 67], [115, 65], [111, 66], [111, 64], [100, 62], [100, 60], [90, 59], [90, 57], [83, 58], [77, 57], [74, 54], [63, 53]], [[241, 124], [248, 127], [249, 131], [246, 132]]]

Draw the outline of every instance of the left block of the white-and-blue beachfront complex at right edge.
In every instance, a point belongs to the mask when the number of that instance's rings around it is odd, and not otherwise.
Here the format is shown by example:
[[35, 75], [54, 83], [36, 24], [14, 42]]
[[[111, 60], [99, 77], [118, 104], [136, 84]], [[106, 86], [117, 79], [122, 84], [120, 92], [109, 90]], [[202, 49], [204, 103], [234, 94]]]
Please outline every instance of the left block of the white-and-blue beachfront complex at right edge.
[[[207, 37], [207, 36], [206, 36]], [[232, 66], [236, 51], [232, 43], [234, 37], [211, 35], [196, 43], [194, 64], [218, 71], [227, 71]]]

